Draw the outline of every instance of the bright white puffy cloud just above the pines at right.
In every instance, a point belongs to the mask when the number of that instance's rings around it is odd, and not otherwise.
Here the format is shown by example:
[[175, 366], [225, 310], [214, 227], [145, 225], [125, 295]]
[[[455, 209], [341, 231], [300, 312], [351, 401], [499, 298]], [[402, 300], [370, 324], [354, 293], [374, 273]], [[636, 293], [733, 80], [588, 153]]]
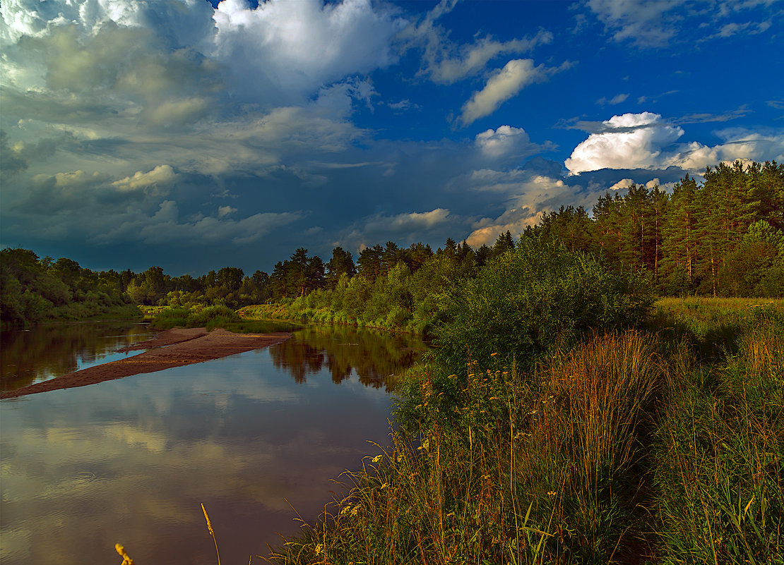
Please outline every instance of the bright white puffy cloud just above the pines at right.
[[651, 112], [625, 113], [603, 124], [604, 131], [591, 134], [564, 162], [569, 171], [658, 167], [662, 165], [662, 146], [670, 146], [684, 135], [681, 128]]

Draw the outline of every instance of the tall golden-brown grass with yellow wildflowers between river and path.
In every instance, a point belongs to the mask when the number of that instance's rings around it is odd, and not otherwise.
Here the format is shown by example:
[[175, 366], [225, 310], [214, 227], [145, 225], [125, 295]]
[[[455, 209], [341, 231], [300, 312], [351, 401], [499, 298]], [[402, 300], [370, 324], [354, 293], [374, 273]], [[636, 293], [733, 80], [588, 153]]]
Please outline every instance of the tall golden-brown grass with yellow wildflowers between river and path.
[[349, 473], [350, 495], [274, 559], [620, 562], [635, 524], [623, 495], [662, 383], [655, 342], [594, 336], [535, 374], [477, 369], [409, 380], [390, 450]]

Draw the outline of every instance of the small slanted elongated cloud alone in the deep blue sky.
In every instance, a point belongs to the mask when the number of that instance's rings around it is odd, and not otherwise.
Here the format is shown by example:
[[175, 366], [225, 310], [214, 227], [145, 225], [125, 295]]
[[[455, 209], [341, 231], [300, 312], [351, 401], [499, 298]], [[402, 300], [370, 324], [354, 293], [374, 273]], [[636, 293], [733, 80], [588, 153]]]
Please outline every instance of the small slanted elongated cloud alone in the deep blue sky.
[[488, 78], [485, 88], [463, 104], [459, 121], [468, 125], [498, 110], [506, 100], [517, 95], [525, 86], [543, 81], [553, 69], [544, 65], [534, 67], [533, 59], [512, 59]]

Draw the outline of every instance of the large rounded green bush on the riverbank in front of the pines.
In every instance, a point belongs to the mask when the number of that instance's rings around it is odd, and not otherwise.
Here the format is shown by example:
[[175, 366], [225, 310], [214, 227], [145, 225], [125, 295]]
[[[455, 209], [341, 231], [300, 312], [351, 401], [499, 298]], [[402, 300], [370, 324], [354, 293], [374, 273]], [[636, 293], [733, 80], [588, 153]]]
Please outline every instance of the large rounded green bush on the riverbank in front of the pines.
[[637, 324], [652, 301], [637, 273], [610, 271], [557, 243], [522, 239], [441, 297], [435, 343], [451, 364], [491, 354], [527, 361], [588, 329]]

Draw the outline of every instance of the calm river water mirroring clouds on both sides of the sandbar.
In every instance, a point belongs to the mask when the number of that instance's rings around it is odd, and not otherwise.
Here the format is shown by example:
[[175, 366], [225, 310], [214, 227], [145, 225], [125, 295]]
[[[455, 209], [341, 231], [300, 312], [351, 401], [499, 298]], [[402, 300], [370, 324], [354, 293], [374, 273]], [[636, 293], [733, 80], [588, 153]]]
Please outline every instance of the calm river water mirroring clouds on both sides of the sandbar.
[[[71, 351], [4, 335], [3, 386], [17, 371], [7, 367], [24, 366], [19, 382], [40, 380], [147, 333], [93, 326], [100, 335], [87, 336], [80, 326], [82, 337], [62, 337]], [[40, 339], [57, 342], [52, 328]], [[136, 563], [214, 565], [202, 502], [222, 563], [267, 555], [277, 532], [298, 530], [292, 507], [314, 519], [343, 493], [340, 473], [378, 452], [368, 441], [387, 442], [385, 378], [422, 350], [397, 336], [307, 329], [269, 349], [2, 401], [0, 561], [114, 563], [120, 542]]]

